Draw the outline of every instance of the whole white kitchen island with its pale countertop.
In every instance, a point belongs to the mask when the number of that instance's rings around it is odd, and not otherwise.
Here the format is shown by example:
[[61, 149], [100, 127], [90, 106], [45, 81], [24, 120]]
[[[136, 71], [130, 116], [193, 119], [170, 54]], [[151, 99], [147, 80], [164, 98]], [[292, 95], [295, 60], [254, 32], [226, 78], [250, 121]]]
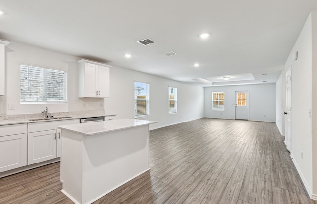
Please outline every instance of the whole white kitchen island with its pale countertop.
[[149, 170], [149, 125], [118, 119], [62, 125], [62, 192], [90, 204]]

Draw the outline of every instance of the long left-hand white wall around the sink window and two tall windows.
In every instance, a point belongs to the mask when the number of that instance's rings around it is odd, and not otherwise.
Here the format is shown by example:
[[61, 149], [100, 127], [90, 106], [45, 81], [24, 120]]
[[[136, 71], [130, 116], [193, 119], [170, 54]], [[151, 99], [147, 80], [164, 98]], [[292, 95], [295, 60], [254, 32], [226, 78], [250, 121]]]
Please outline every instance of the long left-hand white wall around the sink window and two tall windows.
[[[110, 98], [77, 98], [77, 61], [80, 58], [26, 44], [11, 42], [6, 47], [5, 95], [0, 96], [0, 114], [105, 110], [117, 118], [134, 118], [134, 81], [150, 83], [150, 117], [158, 121], [151, 128], [190, 121], [203, 116], [204, 88], [120, 67], [110, 68]], [[68, 68], [68, 102], [20, 104], [20, 63], [48, 68]], [[177, 114], [168, 114], [168, 86], [178, 88]], [[84, 107], [85, 103], [85, 107]], [[100, 104], [103, 104], [101, 107]], [[8, 110], [14, 104], [14, 110]]]

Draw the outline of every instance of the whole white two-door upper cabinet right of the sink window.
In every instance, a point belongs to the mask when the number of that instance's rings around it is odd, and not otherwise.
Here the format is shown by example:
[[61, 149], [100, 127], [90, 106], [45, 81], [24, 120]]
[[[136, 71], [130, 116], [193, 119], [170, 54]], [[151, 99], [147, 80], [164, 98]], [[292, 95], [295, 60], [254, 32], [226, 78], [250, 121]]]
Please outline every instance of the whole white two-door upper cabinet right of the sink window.
[[109, 98], [111, 66], [88, 60], [78, 61], [78, 97]]

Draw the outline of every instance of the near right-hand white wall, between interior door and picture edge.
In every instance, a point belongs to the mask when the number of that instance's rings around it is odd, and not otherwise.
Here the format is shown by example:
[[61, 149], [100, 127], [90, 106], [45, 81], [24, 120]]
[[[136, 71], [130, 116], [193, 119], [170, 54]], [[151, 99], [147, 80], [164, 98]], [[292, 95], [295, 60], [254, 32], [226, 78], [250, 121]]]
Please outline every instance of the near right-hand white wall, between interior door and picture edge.
[[[291, 67], [292, 72], [291, 155], [310, 195], [313, 190], [312, 119], [309, 115], [312, 108], [312, 23], [310, 14], [285, 63], [285, 71]], [[296, 51], [298, 59], [293, 61], [292, 55]]]

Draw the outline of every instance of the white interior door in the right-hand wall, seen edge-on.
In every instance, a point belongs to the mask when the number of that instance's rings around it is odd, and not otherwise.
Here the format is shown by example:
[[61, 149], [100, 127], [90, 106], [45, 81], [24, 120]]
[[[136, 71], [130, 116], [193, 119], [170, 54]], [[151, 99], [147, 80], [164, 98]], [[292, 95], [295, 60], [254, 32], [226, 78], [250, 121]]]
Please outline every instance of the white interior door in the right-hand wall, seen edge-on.
[[285, 144], [286, 149], [291, 151], [291, 82], [292, 72], [291, 68], [286, 72], [286, 110], [285, 115]]

